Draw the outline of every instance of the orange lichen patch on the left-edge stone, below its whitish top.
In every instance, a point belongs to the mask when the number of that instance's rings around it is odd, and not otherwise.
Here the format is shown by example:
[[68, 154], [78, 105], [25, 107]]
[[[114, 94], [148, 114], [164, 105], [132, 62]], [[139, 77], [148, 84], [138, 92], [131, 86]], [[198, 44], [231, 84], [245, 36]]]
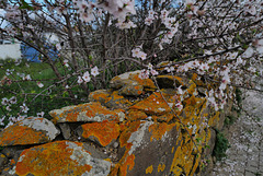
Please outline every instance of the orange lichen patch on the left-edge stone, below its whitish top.
[[26, 126], [15, 124], [0, 133], [0, 145], [34, 144], [48, 142], [48, 136], [44, 131], [36, 131]]

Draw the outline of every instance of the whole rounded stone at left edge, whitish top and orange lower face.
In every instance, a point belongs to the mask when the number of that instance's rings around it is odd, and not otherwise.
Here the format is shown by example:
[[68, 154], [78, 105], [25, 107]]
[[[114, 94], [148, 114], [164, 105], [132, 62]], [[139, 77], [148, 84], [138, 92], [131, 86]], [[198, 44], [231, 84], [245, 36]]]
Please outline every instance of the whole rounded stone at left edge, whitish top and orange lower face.
[[0, 145], [25, 145], [46, 143], [54, 140], [60, 131], [45, 118], [28, 117], [0, 133]]

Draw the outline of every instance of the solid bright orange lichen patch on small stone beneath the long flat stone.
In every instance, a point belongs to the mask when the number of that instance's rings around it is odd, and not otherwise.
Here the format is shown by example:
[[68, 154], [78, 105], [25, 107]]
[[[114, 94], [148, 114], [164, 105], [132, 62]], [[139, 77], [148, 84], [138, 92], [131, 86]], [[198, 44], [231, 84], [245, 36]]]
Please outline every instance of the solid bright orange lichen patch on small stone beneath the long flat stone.
[[102, 146], [108, 145], [113, 140], [119, 136], [119, 126], [113, 121], [92, 122], [81, 126], [83, 129], [82, 137], [94, 137]]

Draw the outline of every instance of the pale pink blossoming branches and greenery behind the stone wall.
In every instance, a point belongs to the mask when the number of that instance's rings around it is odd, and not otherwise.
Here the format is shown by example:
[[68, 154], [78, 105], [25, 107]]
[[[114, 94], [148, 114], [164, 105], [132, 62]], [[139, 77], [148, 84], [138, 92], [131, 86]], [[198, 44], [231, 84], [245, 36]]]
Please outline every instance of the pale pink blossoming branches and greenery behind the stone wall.
[[254, 89], [251, 78], [262, 77], [262, 7], [259, 0], [1, 1], [1, 37], [36, 49], [42, 63], [4, 62], [0, 119], [87, 102], [132, 70], [141, 70], [140, 79], [195, 74], [208, 106], [220, 110], [233, 94], [239, 98], [233, 87]]

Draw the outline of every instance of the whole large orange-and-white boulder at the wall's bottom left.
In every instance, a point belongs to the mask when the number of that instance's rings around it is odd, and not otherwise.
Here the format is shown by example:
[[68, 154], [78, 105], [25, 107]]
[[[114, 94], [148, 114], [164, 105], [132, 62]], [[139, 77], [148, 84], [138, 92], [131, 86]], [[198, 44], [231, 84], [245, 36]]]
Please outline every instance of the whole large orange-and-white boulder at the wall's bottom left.
[[56, 141], [24, 150], [9, 173], [32, 176], [101, 175], [110, 173], [111, 163], [95, 159], [80, 142]]

